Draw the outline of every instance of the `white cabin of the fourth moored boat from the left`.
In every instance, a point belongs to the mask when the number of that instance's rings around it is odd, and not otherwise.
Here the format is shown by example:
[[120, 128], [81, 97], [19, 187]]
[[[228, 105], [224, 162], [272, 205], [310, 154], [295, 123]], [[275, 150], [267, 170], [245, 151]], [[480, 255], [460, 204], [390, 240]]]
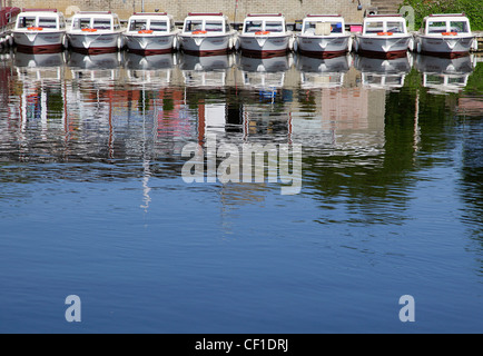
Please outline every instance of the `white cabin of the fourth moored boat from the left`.
[[229, 33], [231, 28], [228, 18], [219, 13], [188, 13], [185, 19], [183, 32], [191, 34]]

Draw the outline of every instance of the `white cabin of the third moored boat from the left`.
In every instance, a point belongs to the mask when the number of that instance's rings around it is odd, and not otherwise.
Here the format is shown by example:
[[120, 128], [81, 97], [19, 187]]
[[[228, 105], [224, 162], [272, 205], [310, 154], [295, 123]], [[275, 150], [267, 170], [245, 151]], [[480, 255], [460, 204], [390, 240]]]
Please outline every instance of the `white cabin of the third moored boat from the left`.
[[138, 12], [129, 18], [128, 32], [169, 33], [176, 30], [172, 16], [166, 12]]

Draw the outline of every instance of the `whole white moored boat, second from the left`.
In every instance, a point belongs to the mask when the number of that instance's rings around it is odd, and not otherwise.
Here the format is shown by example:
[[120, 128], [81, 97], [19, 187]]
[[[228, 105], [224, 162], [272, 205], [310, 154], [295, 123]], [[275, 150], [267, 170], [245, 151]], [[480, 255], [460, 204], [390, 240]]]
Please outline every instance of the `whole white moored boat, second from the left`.
[[80, 52], [115, 52], [124, 47], [119, 17], [110, 11], [81, 11], [67, 31], [69, 46]]

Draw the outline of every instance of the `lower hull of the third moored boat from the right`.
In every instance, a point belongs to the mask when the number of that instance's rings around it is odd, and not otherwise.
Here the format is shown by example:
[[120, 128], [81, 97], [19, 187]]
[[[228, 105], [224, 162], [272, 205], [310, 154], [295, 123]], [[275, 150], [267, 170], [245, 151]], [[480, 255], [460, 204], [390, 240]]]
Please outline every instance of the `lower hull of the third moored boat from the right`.
[[299, 36], [297, 38], [298, 51], [310, 57], [341, 56], [349, 49], [349, 36]]

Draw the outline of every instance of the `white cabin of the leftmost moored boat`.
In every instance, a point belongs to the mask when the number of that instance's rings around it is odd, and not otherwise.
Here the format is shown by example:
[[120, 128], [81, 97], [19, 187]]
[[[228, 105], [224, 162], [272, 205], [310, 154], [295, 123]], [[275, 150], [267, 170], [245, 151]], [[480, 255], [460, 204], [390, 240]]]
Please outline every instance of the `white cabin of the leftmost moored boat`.
[[23, 9], [18, 16], [16, 30], [65, 30], [66, 19], [55, 9]]

